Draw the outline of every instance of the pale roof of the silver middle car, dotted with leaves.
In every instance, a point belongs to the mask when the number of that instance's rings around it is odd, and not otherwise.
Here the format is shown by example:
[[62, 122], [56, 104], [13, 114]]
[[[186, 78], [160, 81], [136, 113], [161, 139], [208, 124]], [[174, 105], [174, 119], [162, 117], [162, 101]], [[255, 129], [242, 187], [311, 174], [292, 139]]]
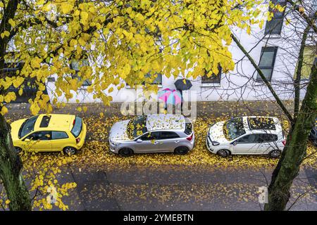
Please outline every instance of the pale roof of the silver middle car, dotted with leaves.
[[148, 115], [148, 131], [163, 129], [185, 129], [185, 117], [183, 115]]

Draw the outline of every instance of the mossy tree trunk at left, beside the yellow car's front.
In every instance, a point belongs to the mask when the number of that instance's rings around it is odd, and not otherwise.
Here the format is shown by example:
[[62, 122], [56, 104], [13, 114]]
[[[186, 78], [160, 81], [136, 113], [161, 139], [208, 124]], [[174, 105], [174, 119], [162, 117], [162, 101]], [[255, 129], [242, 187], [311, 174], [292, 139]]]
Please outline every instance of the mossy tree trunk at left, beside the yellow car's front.
[[31, 200], [21, 174], [22, 162], [13, 148], [10, 125], [0, 114], [0, 178], [13, 211], [32, 210]]

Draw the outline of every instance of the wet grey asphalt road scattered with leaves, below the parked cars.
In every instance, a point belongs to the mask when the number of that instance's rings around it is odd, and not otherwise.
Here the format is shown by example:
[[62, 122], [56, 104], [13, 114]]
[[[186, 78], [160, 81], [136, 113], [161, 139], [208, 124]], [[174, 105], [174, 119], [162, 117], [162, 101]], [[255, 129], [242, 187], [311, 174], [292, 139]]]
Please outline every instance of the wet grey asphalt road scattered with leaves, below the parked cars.
[[[11, 112], [25, 114], [18, 106]], [[267, 186], [271, 172], [201, 165], [124, 169], [104, 165], [83, 170], [68, 167], [59, 181], [77, 184], [63, 198], [70, 210], [262, 210], [256, 191]], [[294, 192], [316, 190], [316, 184], [316, 169], [305, 168], [294, 181]], [[317, 195], [300, 199], [292, 210], [317, 210]]]

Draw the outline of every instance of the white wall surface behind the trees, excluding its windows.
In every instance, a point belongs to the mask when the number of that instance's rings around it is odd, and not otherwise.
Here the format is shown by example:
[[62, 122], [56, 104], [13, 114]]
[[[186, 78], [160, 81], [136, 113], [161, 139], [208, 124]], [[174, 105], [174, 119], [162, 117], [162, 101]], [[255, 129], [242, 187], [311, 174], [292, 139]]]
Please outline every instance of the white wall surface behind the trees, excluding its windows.
[[[275, 35], [271, 36], [269, 39], [263, 39], [264, 28], [265, 25], [262, 29], [253, 27], [251, 35], [242, 30], [233, 30], [233, 32], [238, 39], [240, 39], [242, 46], [244, 46], [247, 51], [250, 51], [250, 55], [254, 58], [256, 63], [259, 63], [262, 46], [279, 47], [275, 58], [271, 84], [282, 100], [292, 99], [292, 75], [294, 75], [294, 69], [297, 62], [300, 39], [299, 37], [293, 37], [292, 41], [290, 41], [290, 39], [285, 39], [284, 37], [288, 37], [292, 34], [291, 27], [285, 25], [282, 27], [282, 38], [279, 35]], [[260, 39], [261, 41], [258, 44]], [[267, 101], [273, 99], [266, 85], [255, 81], [256, 72], [254, 67], [249, 63], [247, 58], [244, 58], [242, 51], [237, 48], [233, 41], [230, 46], [230, 51], [232, 52], [232, 58], [236, 63], [235, 70], [228, 74], [223, 74], [220, 85], [202, 86], [200, 77], [191, 79], [193, 84], [192, 88], [183, 93], [185, 101], [189, 101], [190, 99], [193, 100], [194, 98], [196, 98], [197, 101]], [[163, 76], [162, 87], [160, 89], [175, 89], [174, 82], [175, 79], [173, 77], [167, 78]], [[48, 82], [47, 89], [49, 95], [53, 96], [55, 89], [54, 82]], [[141, 98], [139, 98], [137, 94], [141, 94]], [[302, 93], [302, 96], [303, 94], [304, 93]], [[124, 88], [118, 91], [118, 89], [114, 87], [111, 96], [115, 103], [123, 101], [141, 101], [142, 89], [136, 91], [135, 89]], [[74, 93], [74, 97], [69, 102], [76, 103], [76, 99], [79, 100], [80, 103], [99, 102], [99, 99], [94, 99], [92, 94], [88, 94], [87, 91], [85, 91], [85, 87], [83, 87], [77, 94]], [[58, 101], [65, 101], [65, 98], [61, 96], [58, 98]]]

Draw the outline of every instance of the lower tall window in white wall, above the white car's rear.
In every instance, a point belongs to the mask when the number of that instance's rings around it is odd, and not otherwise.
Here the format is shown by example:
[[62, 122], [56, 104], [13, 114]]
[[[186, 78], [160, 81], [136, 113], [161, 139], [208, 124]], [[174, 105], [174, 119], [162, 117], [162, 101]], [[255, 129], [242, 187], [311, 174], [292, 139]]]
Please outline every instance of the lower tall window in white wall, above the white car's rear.
[[[269, 82], [271, 82], [277, 51], [278, 47], [262, 47], [259, 68]], [[263, 81], [259, 74], [256, 77], [256, 81]]]

